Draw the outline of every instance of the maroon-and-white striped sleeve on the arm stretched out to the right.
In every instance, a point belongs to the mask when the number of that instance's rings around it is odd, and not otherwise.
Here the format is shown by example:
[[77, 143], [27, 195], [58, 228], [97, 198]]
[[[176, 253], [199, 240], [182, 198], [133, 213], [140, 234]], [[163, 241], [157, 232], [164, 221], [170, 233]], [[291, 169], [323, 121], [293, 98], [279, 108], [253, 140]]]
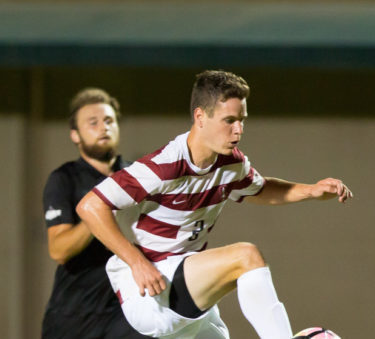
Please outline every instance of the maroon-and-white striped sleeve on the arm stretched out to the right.
[[242, 202], [246, 196], [260, 193], [264, 183], [263, 176], [251, 166], [248, 158], [243, 156], [243, 178], [235, 183], [229, 199]]

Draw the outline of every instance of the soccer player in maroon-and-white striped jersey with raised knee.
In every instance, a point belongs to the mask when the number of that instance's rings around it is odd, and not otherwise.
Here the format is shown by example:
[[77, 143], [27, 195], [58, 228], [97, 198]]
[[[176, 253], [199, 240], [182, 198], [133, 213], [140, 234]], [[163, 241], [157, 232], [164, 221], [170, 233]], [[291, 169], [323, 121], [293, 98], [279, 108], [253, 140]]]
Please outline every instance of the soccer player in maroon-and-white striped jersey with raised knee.
[[229, 338], [216, 304], [237, 288], [241, 310], [261, 338], [292, 337], [258, 248], [241, 242], [206, 249], [209, 233], [228, 199], [344, 202], [352, 193], [338, 179], [309, 185], [261, 176], [238, 149], [249, 91], [230, 72], [197, 75], [190, 131], [104, 180], [77, 207], [115, 253], [108, 276], [129, 323], [143, 334]]

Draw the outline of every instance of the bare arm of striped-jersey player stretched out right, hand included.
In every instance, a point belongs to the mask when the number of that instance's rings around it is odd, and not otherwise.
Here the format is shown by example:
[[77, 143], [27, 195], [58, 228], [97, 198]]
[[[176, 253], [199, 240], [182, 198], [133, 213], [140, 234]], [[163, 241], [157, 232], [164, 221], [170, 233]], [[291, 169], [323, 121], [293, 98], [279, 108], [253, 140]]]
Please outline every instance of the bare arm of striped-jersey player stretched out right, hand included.
[[326, 178], [316, 184], [300, 184], [282, 179], [266, 177], [262, 191], [255, 196], [247, 196], [246, 201], [262, 205], [282, 205], [303, 200], [328, 200], [337, 197], [344, 203], [353, 194], [339, 179]]

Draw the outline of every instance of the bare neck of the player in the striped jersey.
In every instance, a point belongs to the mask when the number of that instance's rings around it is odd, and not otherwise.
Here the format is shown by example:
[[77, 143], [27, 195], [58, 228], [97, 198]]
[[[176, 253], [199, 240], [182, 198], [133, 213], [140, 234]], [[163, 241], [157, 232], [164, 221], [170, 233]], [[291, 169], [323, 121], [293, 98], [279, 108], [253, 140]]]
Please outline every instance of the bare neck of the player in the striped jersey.
[[194, 128], [189, 133], [187, 145], [190, 159], [195, 166], [204, 169], [216, 161], [217, 154], [204, 146]]

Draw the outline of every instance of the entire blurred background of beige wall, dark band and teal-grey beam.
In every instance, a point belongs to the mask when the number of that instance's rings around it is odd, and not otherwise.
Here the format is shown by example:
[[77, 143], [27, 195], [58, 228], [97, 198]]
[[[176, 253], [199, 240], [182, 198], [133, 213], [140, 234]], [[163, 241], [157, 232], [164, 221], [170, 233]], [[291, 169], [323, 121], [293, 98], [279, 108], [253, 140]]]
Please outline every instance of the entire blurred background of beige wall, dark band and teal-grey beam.
[[[228, 203], [211, 247], [261, 248], [295, 332], [374, 335], [375, 1], [13, 0], [0, 2], [1, 338], [40, 338], [55, 270], [42, 190], [78, 156], [71, 97], [117, 97], [135, 160], [189, 129], [194, 76], [217, 68], [251, 86], [241, 149], [263, 175], [338, 177], [354, 199]], [[233, 339], [257, 338], [235, 293], [220, 305]]]

